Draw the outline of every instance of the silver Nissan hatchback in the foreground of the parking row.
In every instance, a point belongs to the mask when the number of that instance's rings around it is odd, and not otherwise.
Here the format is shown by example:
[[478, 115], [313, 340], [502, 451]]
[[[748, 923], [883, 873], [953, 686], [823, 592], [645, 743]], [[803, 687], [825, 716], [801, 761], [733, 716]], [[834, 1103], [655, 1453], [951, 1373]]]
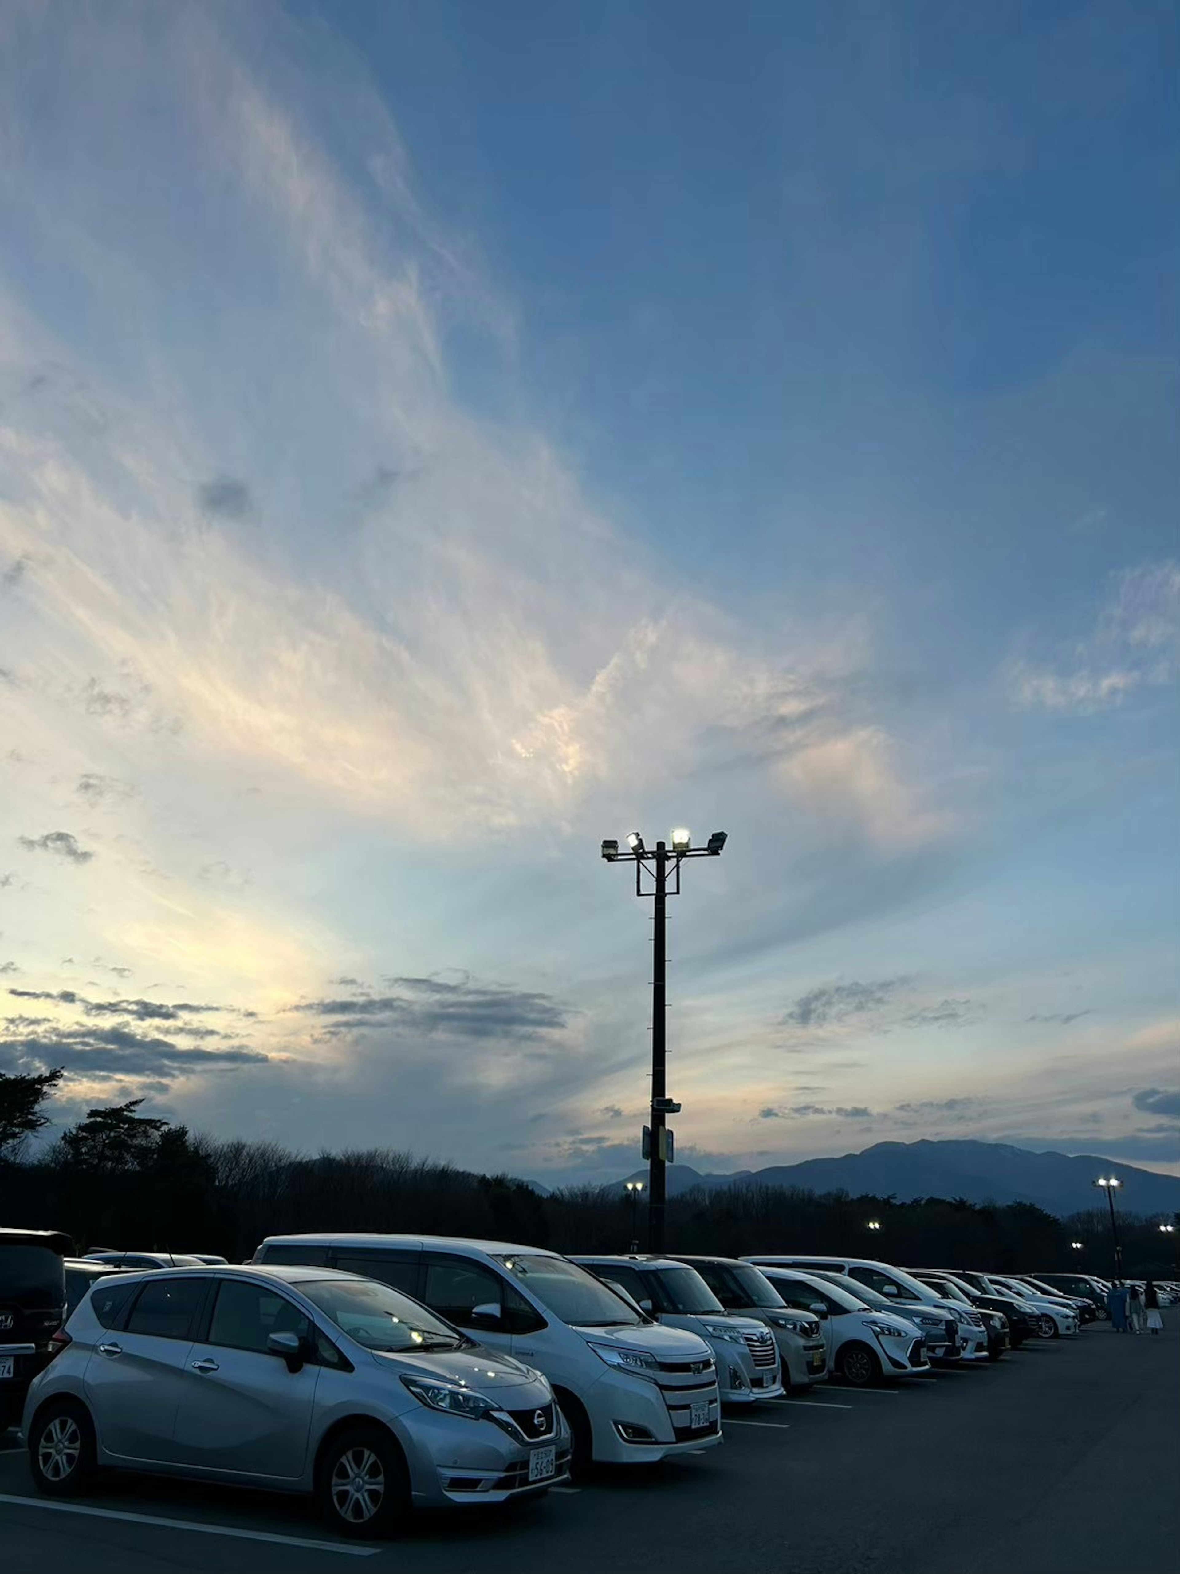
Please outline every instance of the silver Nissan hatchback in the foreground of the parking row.
[[35, 1379], [42, 1492], [101, 1467], [313, 1492], [351, 1536], [411, 1505], [503, 1503], [570, 1472], [548, 1380], [385, 1284], [312, 1267], [99, 1280]]

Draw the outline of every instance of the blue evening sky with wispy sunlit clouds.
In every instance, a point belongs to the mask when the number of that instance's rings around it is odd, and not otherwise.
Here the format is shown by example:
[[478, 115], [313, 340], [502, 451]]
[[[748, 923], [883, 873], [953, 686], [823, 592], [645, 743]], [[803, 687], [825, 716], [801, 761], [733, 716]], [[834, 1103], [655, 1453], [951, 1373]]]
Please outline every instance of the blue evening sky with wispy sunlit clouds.
[[[0, 1067], [1180, 1169], [1166, 5], [11, 6]], [[1130, 1203], [1130, 1198], [1128, 1198]]]

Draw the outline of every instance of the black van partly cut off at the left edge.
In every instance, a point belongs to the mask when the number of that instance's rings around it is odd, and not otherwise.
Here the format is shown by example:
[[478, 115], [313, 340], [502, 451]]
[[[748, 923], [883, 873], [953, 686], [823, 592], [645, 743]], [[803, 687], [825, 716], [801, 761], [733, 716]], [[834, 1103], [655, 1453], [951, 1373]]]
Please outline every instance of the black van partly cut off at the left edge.
[[0, 1226], [0, 1432], [20, 1421], [28, 1385], [50, 1360], [66, 1319], [74, 1242], [58, 1229]]

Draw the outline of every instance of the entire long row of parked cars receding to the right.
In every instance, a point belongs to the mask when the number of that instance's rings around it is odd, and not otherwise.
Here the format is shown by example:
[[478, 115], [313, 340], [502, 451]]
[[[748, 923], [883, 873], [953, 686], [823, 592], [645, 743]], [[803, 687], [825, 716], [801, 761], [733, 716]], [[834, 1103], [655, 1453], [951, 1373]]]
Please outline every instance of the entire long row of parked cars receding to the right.
[[839, 1256], [323, 1234], [242, 1265], [68, 1250], [0, 1231], [0, 1395], [9, 1420], [22, 1401], [38, 1487], [79, 1492], [101, 1467], [255, 1483], [315, 1494], [354, 1536], [716, 1447], [722, 1407], [829, 1374], [994, 1362], [1103, 1302], [1078, 1275]]

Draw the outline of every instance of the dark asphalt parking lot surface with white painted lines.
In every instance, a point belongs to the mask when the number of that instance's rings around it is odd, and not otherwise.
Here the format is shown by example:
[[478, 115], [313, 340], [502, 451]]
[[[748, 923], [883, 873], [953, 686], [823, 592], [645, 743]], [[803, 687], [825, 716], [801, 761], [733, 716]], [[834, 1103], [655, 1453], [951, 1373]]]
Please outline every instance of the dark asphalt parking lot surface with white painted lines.
[[[1175, 1321], [1172, 1316], [1169, 1321]], [[14, 1571], [398, 1574], [555, 1566], [791, 1574], [1089, 1574], [1180, 1566], [1180, 1333], [1108, 1325], [996, 1366], [878, 1390], [823, 1385], [727, 1417], [721, 1448], [603, 1472], [507, 1514], [423, 1516], [398, 1543], [327, 1535], [302, 1500], [102, 1480], [36, 1498], [14, 1434], [0, 1543]]]

